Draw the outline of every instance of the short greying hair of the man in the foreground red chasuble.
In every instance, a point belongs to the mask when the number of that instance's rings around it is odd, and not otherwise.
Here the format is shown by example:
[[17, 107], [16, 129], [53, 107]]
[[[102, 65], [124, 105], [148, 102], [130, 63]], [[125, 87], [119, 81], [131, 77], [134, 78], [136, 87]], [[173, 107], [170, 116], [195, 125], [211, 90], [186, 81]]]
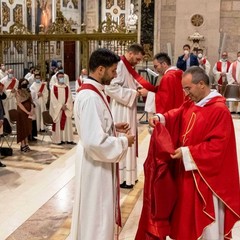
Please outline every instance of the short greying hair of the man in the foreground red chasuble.
[[209, 86], [209, 77], [202, 68], [198, 66], [190, 67], [183, 73], [183, 77], [187, 74], [192, 75], [192, 83], [197, 84], [200, 81], [203, 81], [207, 86]]

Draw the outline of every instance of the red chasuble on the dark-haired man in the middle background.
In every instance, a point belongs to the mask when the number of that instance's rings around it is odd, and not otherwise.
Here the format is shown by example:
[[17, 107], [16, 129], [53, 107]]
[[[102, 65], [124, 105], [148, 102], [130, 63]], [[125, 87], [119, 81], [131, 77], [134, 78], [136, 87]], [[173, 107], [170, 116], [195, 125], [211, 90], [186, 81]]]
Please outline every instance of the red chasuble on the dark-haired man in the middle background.
[[155, 105], [157, 113], [165, 113], [171, 109], [178, 108], [184, 100], [182, 88], [182, 70], [167, 71], [157, 86], [155, 94]]

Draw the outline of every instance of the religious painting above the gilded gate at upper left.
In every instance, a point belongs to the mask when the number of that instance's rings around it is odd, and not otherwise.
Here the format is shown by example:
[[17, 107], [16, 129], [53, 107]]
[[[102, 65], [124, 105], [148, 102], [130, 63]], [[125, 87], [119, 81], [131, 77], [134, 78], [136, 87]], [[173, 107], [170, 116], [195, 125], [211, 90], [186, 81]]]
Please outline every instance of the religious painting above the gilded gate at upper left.
[[35, 32], [46, 32], [52, 23], [52, 0], [36, 0]]

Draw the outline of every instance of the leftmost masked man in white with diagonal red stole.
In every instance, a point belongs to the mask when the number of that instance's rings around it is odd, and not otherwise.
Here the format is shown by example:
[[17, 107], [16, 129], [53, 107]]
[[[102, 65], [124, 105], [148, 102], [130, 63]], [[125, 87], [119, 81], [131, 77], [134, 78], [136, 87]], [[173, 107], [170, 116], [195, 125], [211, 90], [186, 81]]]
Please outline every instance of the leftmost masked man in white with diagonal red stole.
[[3, 100], [5, 117], [10, 120], [8, 111], [10, 109], [17, 109], [16, 90], [18, 89], [18, 80], [14, 77], [13, 69], [9, 69], [7, 75], [0, 82], [4, 85], [4, 91], [7, 95], [7, 98]]

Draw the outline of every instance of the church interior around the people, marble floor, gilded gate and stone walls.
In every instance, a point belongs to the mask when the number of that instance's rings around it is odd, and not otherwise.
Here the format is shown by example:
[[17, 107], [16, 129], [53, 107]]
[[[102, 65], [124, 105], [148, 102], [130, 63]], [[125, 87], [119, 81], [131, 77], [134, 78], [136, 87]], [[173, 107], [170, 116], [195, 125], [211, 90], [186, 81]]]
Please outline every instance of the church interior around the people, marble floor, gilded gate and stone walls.
[[[201, 49], [209, 61], [213, 87], [212, 68], [222, 53], [233, 62], [240, 51], [238, 0], [0, 0], [0, 10], [0, 63], [14, 69], [17, 79], [34, 66], [46, 82], [54, 64], [61, 65], [73, 99], [75, 81], [98, 47], [121, 55], [130, 43], [140, 43], [146, 54], [137, 69], [146, 74], [146, 69], [154, 71], [156, 53], [166, 52], [176, 65], [183, 45], [189, 44], [194, 54]], [[138, 110], [138, 182], [120, 192], [119, 240], [134, 239], [142, 209], [150, 134], [142, 102]], [[240, 164], [239, 113], [232, 118]], [[77, 143], [74, 118], [72, 128]], [[1, 137], [1, 147], [11, 142], [13, 154], [0, 158], [6, 165], [0, 167], [0, 240], [73, 240], [69, 234], [76, 146], [55, 145], [46, 132], [36, 139], [32, 151], [22, 153], [16, 136]], [[234, 226], [232, 239], [240, 239], [240, 223]]]

